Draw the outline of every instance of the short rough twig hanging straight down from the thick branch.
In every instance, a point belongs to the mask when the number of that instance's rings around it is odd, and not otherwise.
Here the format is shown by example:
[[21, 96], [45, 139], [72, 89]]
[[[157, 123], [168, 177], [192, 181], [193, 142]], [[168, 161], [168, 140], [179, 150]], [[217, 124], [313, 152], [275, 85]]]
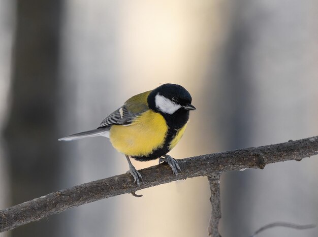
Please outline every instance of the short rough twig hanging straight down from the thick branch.
[[211, 190], [211, 217], [208, 227], [209, 235], [212, 237], [221, 237], [218, 232], [218, 223], [221, 219], [221, 200], [220, 200], [220, 173], [208, 176]]

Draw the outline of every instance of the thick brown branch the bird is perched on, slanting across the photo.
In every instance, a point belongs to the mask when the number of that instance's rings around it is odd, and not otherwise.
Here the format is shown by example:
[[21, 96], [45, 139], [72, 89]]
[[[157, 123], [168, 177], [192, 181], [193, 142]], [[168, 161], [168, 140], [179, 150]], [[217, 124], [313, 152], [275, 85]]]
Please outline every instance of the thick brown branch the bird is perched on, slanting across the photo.
[[[200, 155], [178, 160], [182, 172], [177, 179], [211, 176], [243, 168], [264, 168], [266, 164], [301, 160], [316, 154], [318, 154], [318, 136], [276, 145]], [[88, 202], [132, 193], [176, 180], [169, 165], [164, 164], [145, 168], [140, 170], [140, 173], [143, 177], [140, 187], [133, 183], [130, 174], [123, 174], [56, 191], [2, 210], [0, 211], [0, 231], [13, 229]]]

